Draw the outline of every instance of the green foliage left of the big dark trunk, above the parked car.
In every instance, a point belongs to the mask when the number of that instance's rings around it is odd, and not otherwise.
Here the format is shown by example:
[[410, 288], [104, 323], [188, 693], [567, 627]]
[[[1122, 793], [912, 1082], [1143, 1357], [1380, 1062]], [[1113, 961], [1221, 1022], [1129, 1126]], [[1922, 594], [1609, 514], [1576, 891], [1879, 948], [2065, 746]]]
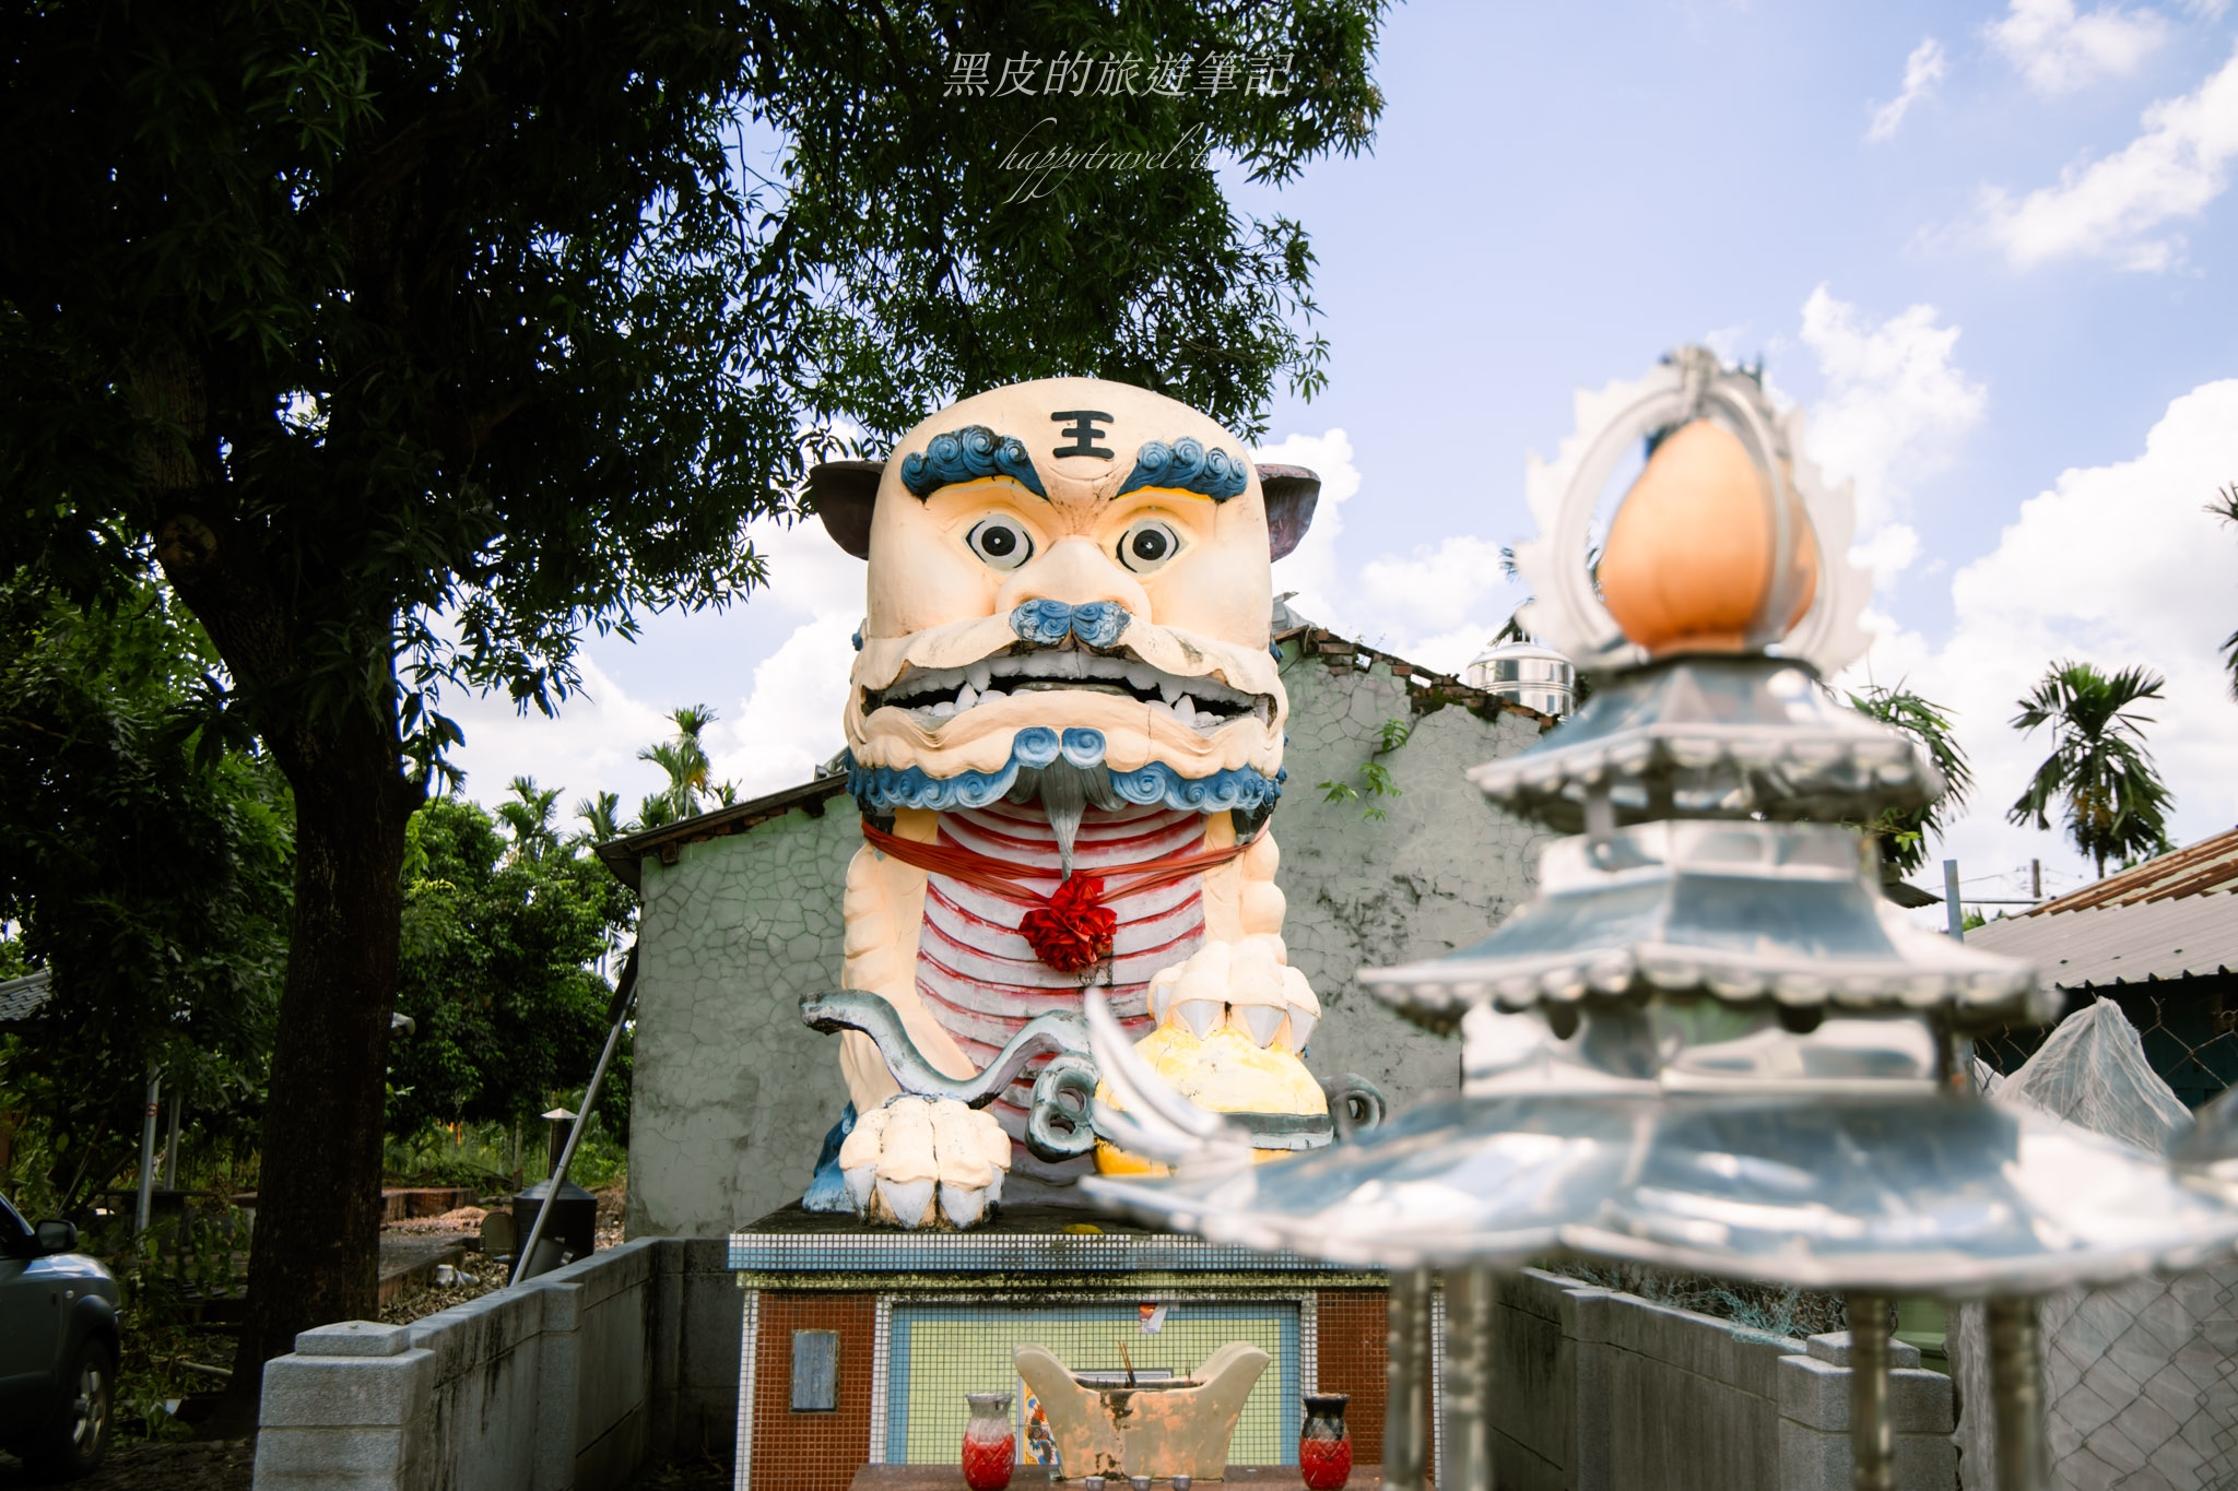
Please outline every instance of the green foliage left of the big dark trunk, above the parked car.
[[63, 1207], [134, 1160], [150, 1062], [192, 1093], [197, 1140], [244, 1138], [262, 1111], [291, 803], [228, 740], [213, 668], [154, 583], [110, 612], [25, 572], [0, 583], [0, 923], [18, 923], [11, 972], [54, 975], [0, 1066]]

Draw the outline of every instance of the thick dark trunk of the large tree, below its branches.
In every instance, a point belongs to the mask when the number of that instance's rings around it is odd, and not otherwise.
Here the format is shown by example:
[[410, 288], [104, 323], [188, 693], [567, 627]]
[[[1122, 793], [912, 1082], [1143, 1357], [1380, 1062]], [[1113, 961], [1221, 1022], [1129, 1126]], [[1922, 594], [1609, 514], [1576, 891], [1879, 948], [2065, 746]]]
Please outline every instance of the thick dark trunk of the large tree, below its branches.
[[[295, 789], [295, 912], [264, 1104], [264, 1160], [248, 1247], [248, 1319], [224, 1404], [255, 1424], [264, 1361], [295, 1332], [374, 1319], [380, 1270], [380, 1145], [405, 820], [419, 791], [396, 733], [351, 713], [275, 751]], [[309, 749], [304, 749], [309, 747]]]

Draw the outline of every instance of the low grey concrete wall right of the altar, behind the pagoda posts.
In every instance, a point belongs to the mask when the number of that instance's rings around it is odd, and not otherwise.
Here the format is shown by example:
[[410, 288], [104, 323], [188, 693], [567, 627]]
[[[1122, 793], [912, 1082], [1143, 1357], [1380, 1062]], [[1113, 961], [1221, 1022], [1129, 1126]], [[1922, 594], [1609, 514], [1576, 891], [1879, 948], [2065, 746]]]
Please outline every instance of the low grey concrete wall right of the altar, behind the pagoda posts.
[[[1529, 1270], [1502, 1279], [1502, 1491], [1849, 1491], [1849, 1337], [1795, 1341]], [[1952, 1381], [1898, 1343], [1896, 1484], [1952, 1491]]]

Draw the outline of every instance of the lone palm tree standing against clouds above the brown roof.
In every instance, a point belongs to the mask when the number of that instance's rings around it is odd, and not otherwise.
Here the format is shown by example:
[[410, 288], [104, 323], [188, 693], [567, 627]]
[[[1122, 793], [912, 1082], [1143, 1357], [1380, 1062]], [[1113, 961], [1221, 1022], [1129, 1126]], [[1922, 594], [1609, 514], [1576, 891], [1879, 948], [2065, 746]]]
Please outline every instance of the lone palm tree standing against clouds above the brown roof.
[[2131, 704], [2162, 697], [2164, 680], [2151, 668], [2099, 673], [2086, 662], [2054, 662], [2037, 691], [2021, 700], [2012, 729], [2028, 735], [2052, 726], [2052, 753], [2037, 767], [2007, 823], [2052, 827], [2052, 798], [2066, 800], [2066, 829], [2077, 849], [2106, 876], [2106, 861], [2135, 861], [2169, 849], [2169, 785], [2160, 780], [2144, 729], [2151, 715]]

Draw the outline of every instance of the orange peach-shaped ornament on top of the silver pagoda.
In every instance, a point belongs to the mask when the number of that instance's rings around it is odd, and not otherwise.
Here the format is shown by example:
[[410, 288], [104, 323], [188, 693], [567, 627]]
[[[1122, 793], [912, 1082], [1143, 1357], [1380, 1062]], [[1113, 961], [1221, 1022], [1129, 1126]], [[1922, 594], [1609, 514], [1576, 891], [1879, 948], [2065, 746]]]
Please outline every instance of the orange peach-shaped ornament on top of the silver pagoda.
[[1625, 635], [1656, 657], [1741, 653], [1802, 621], [1819, 552], [1795, 485], [1779, 487], [1775, 498], [1725, 425], [1692, 420], [1670, 434], [1600, 554], [1600, 595]]

